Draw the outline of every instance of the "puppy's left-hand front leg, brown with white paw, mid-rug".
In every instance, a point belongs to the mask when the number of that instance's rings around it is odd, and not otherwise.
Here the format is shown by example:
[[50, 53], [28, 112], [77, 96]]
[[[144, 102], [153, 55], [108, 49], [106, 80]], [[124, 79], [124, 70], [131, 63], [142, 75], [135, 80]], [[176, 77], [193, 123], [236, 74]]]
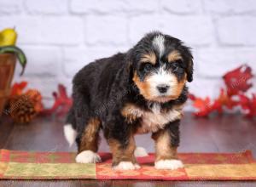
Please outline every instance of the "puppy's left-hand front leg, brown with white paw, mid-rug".
[[132, 170], [140, 168], [134, 156], [136, 145], [133, 136], [130, 136], [125, 142], [111, 138], [108, 139], [108, 144], [113, 155], [113, 169]]

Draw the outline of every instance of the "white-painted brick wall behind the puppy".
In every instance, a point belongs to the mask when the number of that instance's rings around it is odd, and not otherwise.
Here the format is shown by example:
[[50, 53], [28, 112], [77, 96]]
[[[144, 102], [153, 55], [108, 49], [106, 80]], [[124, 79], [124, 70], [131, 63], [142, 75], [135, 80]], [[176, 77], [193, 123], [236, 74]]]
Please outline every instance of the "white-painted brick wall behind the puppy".
[[25, 76], [17, 66], [15, 81], [31, 82], [45, 103], [58, 82], [70, 93], [81, 67], [154, 30], [193, 48], [195, 94], [216, 96], [224, 72], [241, 63], [256, 72], [254, 0], [0, 0], [0, 30], [13, 26], [28, 58]]

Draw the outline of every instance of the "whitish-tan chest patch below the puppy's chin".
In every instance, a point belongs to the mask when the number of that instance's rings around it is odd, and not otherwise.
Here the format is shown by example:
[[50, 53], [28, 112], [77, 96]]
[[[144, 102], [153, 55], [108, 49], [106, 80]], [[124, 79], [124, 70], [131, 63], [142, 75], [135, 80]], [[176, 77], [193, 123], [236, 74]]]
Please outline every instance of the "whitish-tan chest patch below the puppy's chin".
[[143, 111], [141, 127], [137, 133], [156, 132], [163, 129], [168, 122], [180, 119], [182, 116], [181, 109], [172, 109], [167, 112], [160, 111], [160, 105], [154, 105], [152, 111]]

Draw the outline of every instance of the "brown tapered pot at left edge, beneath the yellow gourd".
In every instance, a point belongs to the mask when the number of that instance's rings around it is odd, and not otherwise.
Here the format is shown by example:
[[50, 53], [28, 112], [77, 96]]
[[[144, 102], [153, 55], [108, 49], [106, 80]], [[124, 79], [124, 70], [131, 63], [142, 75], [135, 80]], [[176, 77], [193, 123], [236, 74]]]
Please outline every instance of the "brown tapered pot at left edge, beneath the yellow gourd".
[[0, 54], [0, 116], [9, 98], [11, 82], [15, 72], [15, 54]]

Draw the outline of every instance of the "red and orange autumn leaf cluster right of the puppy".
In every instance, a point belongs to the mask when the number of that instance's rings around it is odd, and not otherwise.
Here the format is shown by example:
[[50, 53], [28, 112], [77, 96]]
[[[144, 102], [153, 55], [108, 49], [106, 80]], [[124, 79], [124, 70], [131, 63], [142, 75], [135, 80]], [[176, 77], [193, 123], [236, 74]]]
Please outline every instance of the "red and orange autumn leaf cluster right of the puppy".
[[[253, 86], [247, 82], [252, 77], [252, 68], [248, 65], [241, 65], [224, 75], [225, 88], [220, 89], [217, 99], [211, 100], [209, 97], [202, 99], [189, 94], [189, 99], [192, 100], [196, 109], [195, 116], [209, 116], [213, 111], [221, 114], [224, 108], [232, 110], [239, 105], [246, 111], [247, 116], [256, 116], [256, 94], [253, 94], [252, 99], [245, 95], [247, 90]], [[235, 99], [235, 96], [239, 99]]]

